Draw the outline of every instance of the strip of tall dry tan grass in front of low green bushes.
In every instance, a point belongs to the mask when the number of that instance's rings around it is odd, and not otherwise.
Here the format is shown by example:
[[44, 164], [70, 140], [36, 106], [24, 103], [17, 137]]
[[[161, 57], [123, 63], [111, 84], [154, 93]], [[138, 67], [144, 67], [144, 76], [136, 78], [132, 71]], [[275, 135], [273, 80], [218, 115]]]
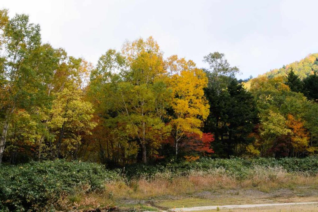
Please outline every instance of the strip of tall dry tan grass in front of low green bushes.
[[155, 179], [144, 178], [130, 181], [114, 181], [106, 185], [108, 192], [116, 198], [148, 199], [162, 195], [183, 195], [217, 189], [256, 188], [263, 192], [272, 189], [295, 187], [317, 188], [317, 176], [303, 173], [291, 174], [282, 168], [261, 168], [251, 170], [244, 180], [225, 173], [224, 169], [213, 169], [208, 172], [193, 172], [189, 176], [170, 179], [167, 174], [158, 174]]

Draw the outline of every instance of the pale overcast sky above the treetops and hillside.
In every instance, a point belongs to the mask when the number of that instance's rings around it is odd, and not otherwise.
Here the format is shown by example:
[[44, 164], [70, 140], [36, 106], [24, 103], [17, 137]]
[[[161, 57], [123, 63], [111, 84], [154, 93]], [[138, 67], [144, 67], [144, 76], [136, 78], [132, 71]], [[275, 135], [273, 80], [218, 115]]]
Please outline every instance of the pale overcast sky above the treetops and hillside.
[[149, 36], [165, 57], [200, 68], [209, 52], [222, 52], [242, 79], [318, 52], [315, 0], [0, 0], [0, 8], [10, 17], [28, 14], [44, 43], [93, 64], [108, 49]]

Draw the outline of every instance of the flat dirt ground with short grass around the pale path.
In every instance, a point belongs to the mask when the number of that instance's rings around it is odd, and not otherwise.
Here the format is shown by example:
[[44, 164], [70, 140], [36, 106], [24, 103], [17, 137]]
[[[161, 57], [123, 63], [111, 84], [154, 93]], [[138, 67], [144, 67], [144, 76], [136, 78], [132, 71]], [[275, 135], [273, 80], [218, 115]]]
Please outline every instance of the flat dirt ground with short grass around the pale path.
[[[318, 190], [310, 188], [277, 189], [261, 192], [256, 189], [204, 191], [182, 196], [161, 196], [149, 200], [121, 200], [123, 205], [144, 205], [153, 210], [169, 210], [211, 205], [318, 202]], [[294, 205], [249, 209], [220, 209], [219, 211], [318, 211], [318, 205]], [[150, 209], [152, 210], [152, 209]], [[216, 211], [216, 210], [210, 210]]]

